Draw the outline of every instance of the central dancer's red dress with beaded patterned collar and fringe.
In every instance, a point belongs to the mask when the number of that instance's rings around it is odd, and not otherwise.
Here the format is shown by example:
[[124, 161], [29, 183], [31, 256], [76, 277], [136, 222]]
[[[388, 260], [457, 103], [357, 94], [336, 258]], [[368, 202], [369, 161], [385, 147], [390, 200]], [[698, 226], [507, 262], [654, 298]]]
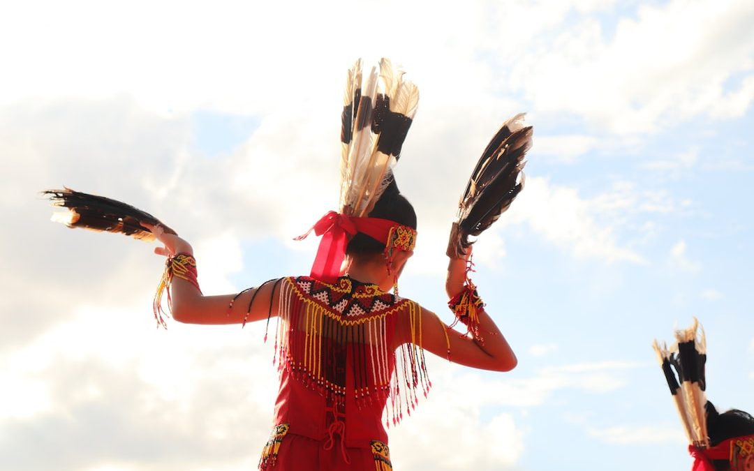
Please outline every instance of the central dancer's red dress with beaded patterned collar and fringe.
[[421, 332], [418, 304], [348, 277], [290, 277], [279, 306], [280, 389], [259, 469], [391, 470], [383, 420], [396, 424], [430, 386], [421, 335], [391, 350], [398, 316]]

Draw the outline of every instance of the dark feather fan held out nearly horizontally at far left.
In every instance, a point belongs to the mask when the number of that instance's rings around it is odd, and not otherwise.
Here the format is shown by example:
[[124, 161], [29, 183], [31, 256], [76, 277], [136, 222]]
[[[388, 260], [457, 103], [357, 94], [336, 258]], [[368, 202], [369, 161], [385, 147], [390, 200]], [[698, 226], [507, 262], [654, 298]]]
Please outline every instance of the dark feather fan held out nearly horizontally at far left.
[[42, 191], [53, 206], [68, 208], [65, 213], [54, 213], [52, 220], [62, 222], [69, 228], [84, 228], [91, 231], [106, 231], [124, 234], [139, 240], [155, 240], [155, 234], [141, 225], [161, 225], [165, 232], [176, 234], [159, 219], [130, 204], [121, 201], [81, 193], [70, 188]]

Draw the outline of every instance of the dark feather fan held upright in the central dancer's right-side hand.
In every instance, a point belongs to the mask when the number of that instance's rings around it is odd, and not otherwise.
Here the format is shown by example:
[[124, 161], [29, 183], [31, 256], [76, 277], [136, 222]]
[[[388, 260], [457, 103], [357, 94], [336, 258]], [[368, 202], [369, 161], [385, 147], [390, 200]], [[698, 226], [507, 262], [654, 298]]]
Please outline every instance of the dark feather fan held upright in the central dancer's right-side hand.
[[532, 127], [520, 113], [505, 121], [492, 137], [471, 173], [458, 203], [458, 222], [448, 244], [448, 255], [461, 257], [478, 236], [498, 220], [523, 189], [526, 152], [532, 147]]

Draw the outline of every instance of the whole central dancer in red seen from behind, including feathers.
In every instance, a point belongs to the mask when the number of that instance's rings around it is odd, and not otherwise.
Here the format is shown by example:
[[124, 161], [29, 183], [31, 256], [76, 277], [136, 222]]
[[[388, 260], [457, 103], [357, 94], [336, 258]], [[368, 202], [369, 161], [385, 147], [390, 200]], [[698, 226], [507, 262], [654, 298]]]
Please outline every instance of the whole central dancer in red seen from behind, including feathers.
[[270, 280], [236, 295], [203, 295], [192, 246], [153, 216], [122, 216], [123, 208], [113, 209], [112, 200], [93, 202], [97, 197], [67, 189], [48, 192], [72, 210], [72, 227], [156, 237], [162, 244], [155, 249], [167, 257], [155, 297], [159, 323], [164, 325], [164, 292], [170, 314], [182, 323], [266, 321], [280, 387], [259, 469], [388, 471], [385, 427], [410, 414], [431, 387], [425, 350], [478, 369], [505, 372], [516, 366], [513, 350], [468, 279], [468, 236], [489, 227], [520, 191], [531, 127], [523, 127], [520, 115], [504, 124], [461, 200], [446, 277], [452, 324], [467, 326], [461, 334], [398, 295], [417, 221], [392, 168], [418, 90], [385, 59], [363, 75], [360, 61], [348, 71], [339, 211], [327, 213], [311, 229], [322, 240], [308, 276]]

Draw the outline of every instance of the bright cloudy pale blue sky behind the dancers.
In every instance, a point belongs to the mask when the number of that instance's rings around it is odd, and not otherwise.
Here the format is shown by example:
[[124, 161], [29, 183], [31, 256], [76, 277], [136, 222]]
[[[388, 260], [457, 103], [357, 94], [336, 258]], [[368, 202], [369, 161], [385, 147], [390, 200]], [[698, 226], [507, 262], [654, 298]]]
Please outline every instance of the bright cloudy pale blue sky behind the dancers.
[[[694, 317], [707, 395], [754, 411], [754, 3], [5, 2], [0, 457], [14, 471], [255, 469], [265, 326], [155, 329], [154, 244], [50, 222], [63, 185], [158, 216], [207, 294], [308, 274], [336, 209], [345, 71], [418, 84], [395, 170], [419, 219], [401, 295], [451, 322], [444, 256], [486, 143], [527, 113], [526, 186], [474, 282], [519, 358], [432, 357], [400, 469], [689, 469], [651, 342]], [[608, 464], [609, 463], [609, 464]]]

